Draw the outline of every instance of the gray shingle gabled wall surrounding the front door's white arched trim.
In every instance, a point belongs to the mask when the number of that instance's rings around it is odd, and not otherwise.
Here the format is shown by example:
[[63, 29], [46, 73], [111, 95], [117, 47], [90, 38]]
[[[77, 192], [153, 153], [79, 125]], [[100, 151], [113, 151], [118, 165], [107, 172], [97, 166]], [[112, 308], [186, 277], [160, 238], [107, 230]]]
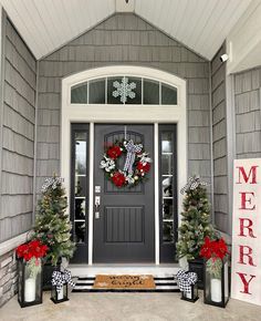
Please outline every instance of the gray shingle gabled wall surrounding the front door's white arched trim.
[[135, 14], [118, 13], [39, 63], [36, 190], [60, 173], [61, 79], [114, 64], [157, 68], [188, 81], [189, 174], [210, 182], [208, 62]]

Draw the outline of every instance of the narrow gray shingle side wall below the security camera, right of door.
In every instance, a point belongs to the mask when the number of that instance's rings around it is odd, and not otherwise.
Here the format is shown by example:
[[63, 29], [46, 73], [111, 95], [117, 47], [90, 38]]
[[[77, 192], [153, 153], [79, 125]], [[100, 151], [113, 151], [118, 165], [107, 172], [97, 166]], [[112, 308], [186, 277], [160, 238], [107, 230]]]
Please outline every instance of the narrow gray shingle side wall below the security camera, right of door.
[[223, 53], [226, 53], [225, 45], [211, 61], [213, 217], [216, 227], [229, 232], [226, 63], [220, 60]]

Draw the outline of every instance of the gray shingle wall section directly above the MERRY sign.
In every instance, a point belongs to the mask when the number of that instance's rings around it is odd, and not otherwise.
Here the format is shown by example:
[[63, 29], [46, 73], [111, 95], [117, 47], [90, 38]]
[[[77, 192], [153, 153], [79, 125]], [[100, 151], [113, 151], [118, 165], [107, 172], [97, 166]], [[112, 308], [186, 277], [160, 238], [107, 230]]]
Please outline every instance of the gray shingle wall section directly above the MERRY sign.
[[261, 68], [234, 75], [237, 158], [261, 157]]

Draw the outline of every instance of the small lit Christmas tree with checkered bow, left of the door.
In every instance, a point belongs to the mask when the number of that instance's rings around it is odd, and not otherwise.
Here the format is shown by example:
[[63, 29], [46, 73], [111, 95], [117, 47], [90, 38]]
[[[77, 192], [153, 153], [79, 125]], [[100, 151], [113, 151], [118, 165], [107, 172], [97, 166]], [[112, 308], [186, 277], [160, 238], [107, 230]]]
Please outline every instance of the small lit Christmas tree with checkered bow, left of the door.
[[59, 258], [71, 258], [74, 244], [71, 241], [71, 222], [63, 179], [48, 178], [42, 186], [42, 198], [38, 204], [38, 215], [34, 227], [34, 238], [49, 247], [46, 259], [56, 266]]

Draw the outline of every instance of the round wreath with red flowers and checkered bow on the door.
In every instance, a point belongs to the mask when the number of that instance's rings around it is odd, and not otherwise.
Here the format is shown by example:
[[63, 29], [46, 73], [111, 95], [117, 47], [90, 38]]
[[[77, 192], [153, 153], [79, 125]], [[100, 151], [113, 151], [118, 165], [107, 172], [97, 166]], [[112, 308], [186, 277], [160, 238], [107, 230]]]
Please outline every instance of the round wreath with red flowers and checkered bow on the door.
[[[119, 169], [117, 159], [126, 156], [124, 168]], [[106, 177], [117, 187], [135, 186], [146, 178], [150, 169], [152, 158], [144, 151], [142, 144], [135, 144], [132, 139], [116, 142], [109, 146], [101, 161], [100, 167]]]

